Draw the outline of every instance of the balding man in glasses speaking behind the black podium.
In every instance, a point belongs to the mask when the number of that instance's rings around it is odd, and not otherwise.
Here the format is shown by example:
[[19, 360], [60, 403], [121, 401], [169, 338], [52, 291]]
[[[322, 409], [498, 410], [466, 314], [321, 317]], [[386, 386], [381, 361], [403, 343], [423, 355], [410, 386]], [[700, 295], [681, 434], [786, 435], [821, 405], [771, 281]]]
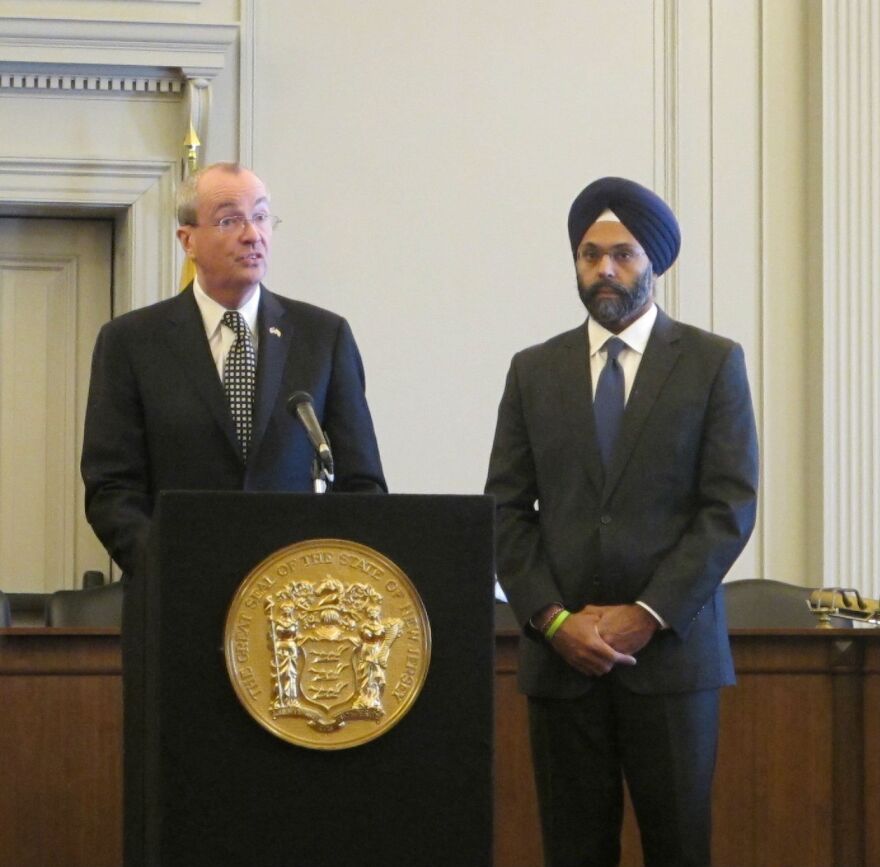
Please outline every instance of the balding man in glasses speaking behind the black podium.
[[162, 490], [308, 491], [312, 447], [287, 410], [311, 394], [339, 491], [385, 491], [348, 323], [262, 285], [273, 230], [251, 171], [215, 163], [181, 186], [177, 236], [195, 264], [174, 298], [98, 335], [83, 438], [86, 514], [138, 571]]

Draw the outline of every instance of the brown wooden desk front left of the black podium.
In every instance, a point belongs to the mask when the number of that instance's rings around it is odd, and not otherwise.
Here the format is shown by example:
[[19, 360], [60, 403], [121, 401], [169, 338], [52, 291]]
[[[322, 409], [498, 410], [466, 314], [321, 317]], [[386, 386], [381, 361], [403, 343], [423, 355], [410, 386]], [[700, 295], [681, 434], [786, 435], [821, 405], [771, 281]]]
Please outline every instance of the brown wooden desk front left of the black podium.
[[119, 636], [88, 633], [0, 630], [0, 867], [122, 862]]

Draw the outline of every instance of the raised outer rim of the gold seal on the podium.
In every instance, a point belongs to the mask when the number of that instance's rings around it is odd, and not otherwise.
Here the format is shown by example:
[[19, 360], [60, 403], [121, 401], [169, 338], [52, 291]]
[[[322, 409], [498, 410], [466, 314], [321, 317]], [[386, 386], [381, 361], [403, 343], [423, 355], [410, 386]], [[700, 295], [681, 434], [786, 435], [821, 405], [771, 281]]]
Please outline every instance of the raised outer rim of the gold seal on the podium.
[[[353, 737], [347, 741], [327, 741], [325, 743], [306, 741], [304, 739], [294, 737], [282, 726], [275, 723], [272, 719], [264, 717], [261, 714], [255, 712], [254, 708], [251, 706], [251, 701], [247, 695], [246, 690], [239, 682], [240, 675], [237, 672], [234, 646], [236, 624], [235, 615], [243, 606], [244, 599], [247, 598], [248, 594], [252, 590], [252, 588], [249, 586], [252, 579], [257, 580], [260, 573], [267, 571], [269, 565], [280, 557], [288, 557], [291, 555], [295, 555], [298, 551], [302, 551], [304, 549], [311, 550], [321, 546], [344, 547], [362, 556], [369, 556], [371, 559], [378, 561], [383, 567], [385, 567], [388, 573], [391, 574], [396, 580], [403, 583], [403, 585], [409, 591], [409, 597], [417, 609], [417, 615], [423, 627], [421, 650], [424, 654], [424, 664], [420, 667], [418, 677], [414, 678], [412, 689], [408, 692], [405, 699], [401, 701], [399, 706], [395, 708], [392, 713], [388, 714], [383, 725], [378, 726], [377, 729], [373, 732], [369, 732], [366, 735], [360, 734], [357, 737]], [[419, 695], [421, 695], [422, 688], [424, 687], [425, 681], [427, 680], [428, 671], [431, 666], [431, 652], [431, 622], [428, 619], [428, 612], [425, 608], [425, 603], [422, 600], [418, 589], [416, 588], [410, 577], [406, 574], [406, 572], [403, 571], [403, 569], [400, 568], [400, 566], [397, 565], [397, 563], [395, 563], [386, 554], [383, 554], [381, 551], [377, 551], [375, 548], [371, 548], [370, 546], [365, 545], [361, 542], [354, 542], [350, 539], [339, 539], [330, 537], [303, 539], [299, 542], [293, 542], [290, 545], [285, 545], [282, 548], [278, 548], [276, 551], [273, 551], [271, 554], [264, 557], [256, 566], [248, 571], [247, 575], [245, 575], [245, 577], [241, 580], [238, 587], [236, 588], [236, 591], [233, 594], [232, 599], [230, 600], [229, 607], [226, 612], [226, 620], [223, 631], [223, 654], [226, 663], [226, 671], [239, 704], [243, 707], [248, 716], [259, 723], [259, 725], [262, 726], [262, 728], [264, 728], [270, 734], [274, 735], [280, 740], [285, 741], [286, 743], [292, 744], [293, 746], [311, 750], [335, 751], [353, 749], [355, 747], [370, 743], [371, 741], [374, 741], [388, 734], [389, 731], [395, 728], [400, 723], [400, 721], [404, 717], [406, 717], [407, 714], [409, 714], [412, 706], [415, 704]]]

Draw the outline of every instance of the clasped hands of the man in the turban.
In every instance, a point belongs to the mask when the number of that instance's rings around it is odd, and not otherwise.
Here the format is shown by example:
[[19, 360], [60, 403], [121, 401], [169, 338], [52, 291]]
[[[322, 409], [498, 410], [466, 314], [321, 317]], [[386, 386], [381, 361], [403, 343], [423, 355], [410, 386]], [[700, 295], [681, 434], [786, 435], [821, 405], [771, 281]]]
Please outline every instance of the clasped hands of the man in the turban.
[[659, 628], [641, 605], [586, 605], [568, 617], [550, 644], [584, 674], [608, 674], [616, 665], [635, 665]]

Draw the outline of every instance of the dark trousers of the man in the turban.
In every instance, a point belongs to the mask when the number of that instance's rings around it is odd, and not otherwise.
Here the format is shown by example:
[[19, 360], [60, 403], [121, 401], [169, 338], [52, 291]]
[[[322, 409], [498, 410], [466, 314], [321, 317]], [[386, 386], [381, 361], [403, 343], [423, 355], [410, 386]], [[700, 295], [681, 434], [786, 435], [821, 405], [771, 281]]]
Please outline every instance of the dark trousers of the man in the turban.
[[545, 867], [620, 862], [624, 778], [646, 867], [707, 867], [718, 690], [638, 695], [611, 672], [529, 698], [529, 726]]

